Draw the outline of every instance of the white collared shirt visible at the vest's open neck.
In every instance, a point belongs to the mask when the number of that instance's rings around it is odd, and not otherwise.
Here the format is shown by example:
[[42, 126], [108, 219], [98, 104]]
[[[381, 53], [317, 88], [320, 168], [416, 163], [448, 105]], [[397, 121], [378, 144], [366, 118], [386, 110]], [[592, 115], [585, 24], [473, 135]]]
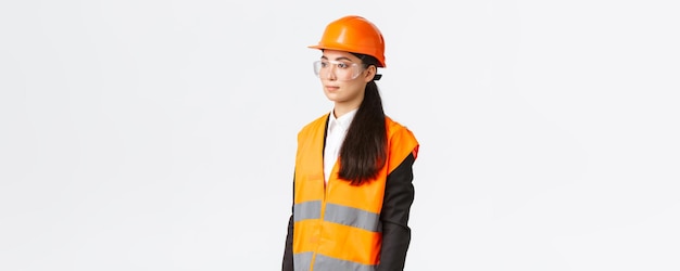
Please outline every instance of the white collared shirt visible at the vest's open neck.
[[330, 172], [338, 160], [340, 147], [342, 147], [344, 137], [348, 133], [348, 129], [350, 128], [357, 109], [358, 108], [348, 112], [339, 118], [336, 118], [333, 114], [335, 108], [330, 111], [330, 116], [328, 117], [328, 129], [326, 130], [326, 147], [324, 147], [324, 180], [326, 183], [328, 183]]

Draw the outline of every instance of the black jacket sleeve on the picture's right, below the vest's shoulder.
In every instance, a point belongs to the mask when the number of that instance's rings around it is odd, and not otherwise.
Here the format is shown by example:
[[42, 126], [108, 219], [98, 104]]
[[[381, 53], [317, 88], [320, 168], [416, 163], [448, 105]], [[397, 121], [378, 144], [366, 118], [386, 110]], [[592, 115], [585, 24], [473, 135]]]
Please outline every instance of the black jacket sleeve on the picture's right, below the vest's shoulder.
[[380, 212], [382, 222], [382, 249], [377, 271], [404, 270], [406, 251], [411, 243], [408, 215], [414, 201], [413, 163], [410, 154], [387, 177], [385, 199]]

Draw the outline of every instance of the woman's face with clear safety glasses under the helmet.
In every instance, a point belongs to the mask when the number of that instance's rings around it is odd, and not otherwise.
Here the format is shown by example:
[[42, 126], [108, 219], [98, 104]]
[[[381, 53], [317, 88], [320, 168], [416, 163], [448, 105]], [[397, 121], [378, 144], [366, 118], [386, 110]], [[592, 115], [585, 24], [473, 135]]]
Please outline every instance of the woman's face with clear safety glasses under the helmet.
[[336, 106], [358, 107], [364, 99], [366, 83], [373, 80], [376, 67], [365, 67], [355, 55], [335, 50], [324, 50], [316, 64], [324, 93]]

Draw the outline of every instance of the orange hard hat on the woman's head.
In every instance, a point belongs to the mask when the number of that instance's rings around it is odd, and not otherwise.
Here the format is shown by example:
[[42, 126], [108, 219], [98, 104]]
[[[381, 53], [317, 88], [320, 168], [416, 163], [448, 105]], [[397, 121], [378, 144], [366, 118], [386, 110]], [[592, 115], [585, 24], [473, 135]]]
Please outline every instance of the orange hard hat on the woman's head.
[[349, 15], [330, 22], [322, 40], [313, 49], [328, 49], [361, 53], [378, 60], [378, 67], [385, 67], [385, 40], [380, 29], [368, 20]]

